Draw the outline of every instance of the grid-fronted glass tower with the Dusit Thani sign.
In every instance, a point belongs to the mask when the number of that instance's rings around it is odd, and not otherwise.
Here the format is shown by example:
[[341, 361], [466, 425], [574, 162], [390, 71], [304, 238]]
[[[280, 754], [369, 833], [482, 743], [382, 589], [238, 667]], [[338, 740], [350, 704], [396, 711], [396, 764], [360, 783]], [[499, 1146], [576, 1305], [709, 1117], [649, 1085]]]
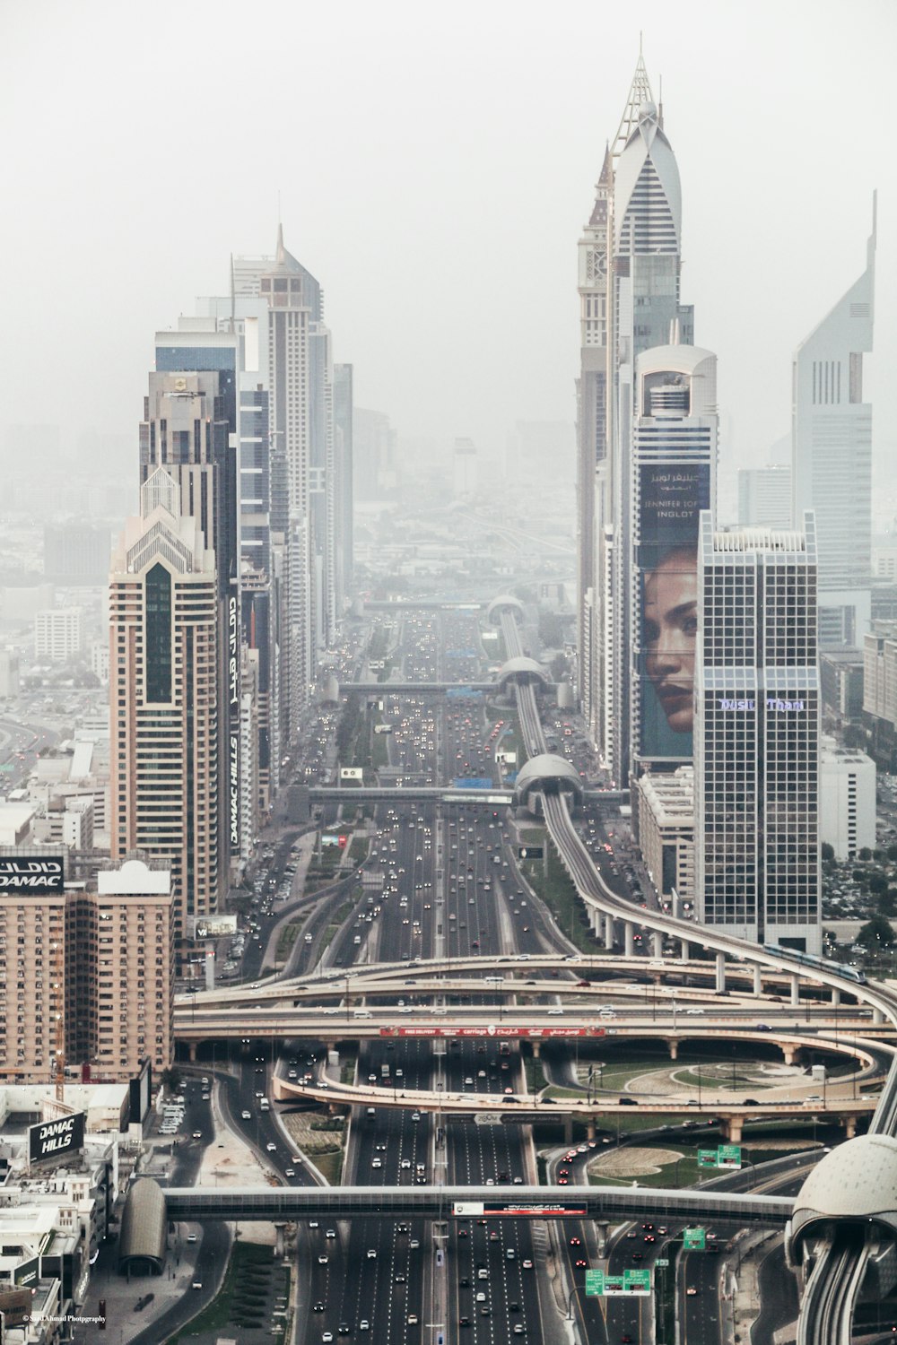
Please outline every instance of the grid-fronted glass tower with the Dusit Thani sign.
[[820, 952], [816, 539], [701, 515], [695, 687], [698, 917]]

